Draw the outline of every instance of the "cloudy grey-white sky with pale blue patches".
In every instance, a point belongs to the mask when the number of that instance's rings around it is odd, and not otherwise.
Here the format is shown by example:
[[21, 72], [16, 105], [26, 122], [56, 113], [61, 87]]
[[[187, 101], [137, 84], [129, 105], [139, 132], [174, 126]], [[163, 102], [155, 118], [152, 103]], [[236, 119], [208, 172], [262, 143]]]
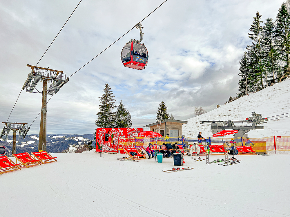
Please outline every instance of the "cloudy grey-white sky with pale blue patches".
[[[82, 0], [38, 66], [72, 75], [163, 1]], [[26, 65], [37, 64], [78, 3], [0, 1], [1, 122], [7, 121], [31, 71]], [[275, 19], [282, 3], [166, 1], [142, 22], [142, 43], [149, 54], [146, 69], [125, 68], [120, 60], [125, 43], [140, 38], [139, 30], [133, 29], [53, 95], [47, 104], [47, 133], [93, 133], [98, 97], [106, 82], [116, 104], [122, 100], [131, 113], [133, 127], [155, 122], [161, 101], [178, 120], [193, 117], [197, 106], [210, 111], [224, 104], [238, 92], [239, 61], [251, 43], [248, 32], [253, 17], [258, 11], [262, 20]], [[22, 91], [8, 121], [30, 125], [40, 110], [41, 94]], [[40, 116], [28, 134], [38, 134], [39, 123]]]

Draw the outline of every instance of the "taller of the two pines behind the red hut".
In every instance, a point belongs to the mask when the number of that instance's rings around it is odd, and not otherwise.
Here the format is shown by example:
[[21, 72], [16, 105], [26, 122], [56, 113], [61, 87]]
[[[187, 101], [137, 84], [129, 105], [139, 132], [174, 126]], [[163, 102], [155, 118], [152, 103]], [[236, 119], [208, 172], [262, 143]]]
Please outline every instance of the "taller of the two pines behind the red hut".
[[108, 83], [106, 83], [105, 88], [103, 90], [104, 94], [100, 96], [99, 101], [101, 104], [99, 105], [100, 111], [97, 113], [98, 119], [95, 124], [99, 128], [111, 128], [114, 127], [114, 112], [112, 110], [116, 108], [115, 99], [113, 96], [113, 91], [109, 87]]

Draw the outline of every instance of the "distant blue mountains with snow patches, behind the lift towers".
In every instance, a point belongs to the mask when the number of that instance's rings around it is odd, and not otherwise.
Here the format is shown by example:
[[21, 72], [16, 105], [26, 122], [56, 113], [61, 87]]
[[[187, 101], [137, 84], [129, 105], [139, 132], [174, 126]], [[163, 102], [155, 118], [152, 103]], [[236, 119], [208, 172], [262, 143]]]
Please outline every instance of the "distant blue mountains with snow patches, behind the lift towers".
[[[17, 135], [18, 137], [18, 135]], [[17, 138], [16, 137], [16, 138]], [[0, 146], [5, 146], [6, 155], [8, 157], [12, 154], [12, 139], [13, 136], [8, 136], [7, 140], [0, 139]], [[46, 151], [51, 153], [60, 152], [82, 152], [84, 151], [84, 145], [88, 144], [89, 141], [94, 140], [94, 134], [84, 135], [47, 135], [46, 137]], [[39, 135], [26, 135], [22, 140], [16, 141], [16, 153], [22, 152], [37, 152], [38, 151]], [[95, 142], [92, 144], [96, 145]]]

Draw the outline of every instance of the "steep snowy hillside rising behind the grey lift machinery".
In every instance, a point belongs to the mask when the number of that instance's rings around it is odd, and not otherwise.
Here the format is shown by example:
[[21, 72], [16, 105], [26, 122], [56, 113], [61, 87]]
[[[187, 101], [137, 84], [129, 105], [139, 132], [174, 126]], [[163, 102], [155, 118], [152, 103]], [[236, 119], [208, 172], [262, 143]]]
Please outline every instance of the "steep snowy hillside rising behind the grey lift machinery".
[[[256, 93], [243, 96], [233, 102], [220, 106], [208, 113], [188, 119], [183, 125], [183, 135], [197, 137], [201, 131], [203, 137], [212, 136], [211, 125], [202, 125], [200, 121], [238, 121], [251, 116], [251, 112], [262, 114], [262, 117], [271, 117], [290, 112], [290, 79], [274, 84]], [[290, 114], [288, 114], [290, 115]], [[279, 118], [281, 115], [273, 118]], [[273, 119], [268, 118], [268, 119]], [[258, 126], [264, 130], [251, 130], [251, 138], [269, 136], [290, 136], [290, 117], [269, 120]], [[237, 126], [237, 125], [236, 125]], [[233, 137], [233, 136], [232, 136]], [[229, 138], [232, 138], [229, 136]]]

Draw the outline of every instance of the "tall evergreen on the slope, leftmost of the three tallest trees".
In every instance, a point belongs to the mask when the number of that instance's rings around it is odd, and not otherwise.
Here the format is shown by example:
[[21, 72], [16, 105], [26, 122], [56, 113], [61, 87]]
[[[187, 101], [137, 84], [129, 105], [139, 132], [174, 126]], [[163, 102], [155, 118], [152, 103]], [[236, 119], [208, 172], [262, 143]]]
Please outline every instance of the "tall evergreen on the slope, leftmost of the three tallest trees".
[[[250, 27], [250, 31], [252, 33], [249, 33], [249, 38], [251, 38], [254, 42], [252, 47], [255, 47], [255, 67], [253, 68], [253, 73], [255, 73], [255, 77], [258, 77], [260, 79], [260, 82], [257, 81], [257, 84], [260, 83], [260, 85], [257, 85], [261, 87], [261, 89], [264, 88], [263, 85], [263, 65], [262, 65], [262, 58], [263, 58], [263, 54], [262, 54], [262, 49], [261, 49], [261, 34], [262, 34], [262, 29], [263, 27], [261, 26], [261, 23], [263, 23], [263, 21], [261, 21], [261, 17], [262, 15], [259, 14], [259, 12], [256, 13], [256, 16], [254, 17], [254, 21], [253, 24], [251, 24]], [[260, 90], [257, 88], [257, 91]]]

